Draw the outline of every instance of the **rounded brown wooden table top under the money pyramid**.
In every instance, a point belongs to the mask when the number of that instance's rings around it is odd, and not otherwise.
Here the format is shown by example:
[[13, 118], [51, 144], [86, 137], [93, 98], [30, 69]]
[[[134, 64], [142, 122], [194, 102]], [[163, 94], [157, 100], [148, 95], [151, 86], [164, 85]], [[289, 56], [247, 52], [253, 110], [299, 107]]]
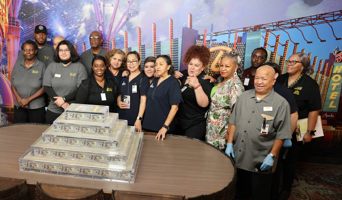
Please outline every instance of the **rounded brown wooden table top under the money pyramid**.
[[156, 140], [144, 135], [144, 144], [134, 183], [76, 178], [19, 171], [18, 159], [48, 126], [13, 125], [0, 128], [0, 176], [36, 182], [103, 188], [104, 192], [127, 190], [195, 197], [222, 190], [236, 179], [232, 159], [219, 150], [192, 139], [166, 136]]

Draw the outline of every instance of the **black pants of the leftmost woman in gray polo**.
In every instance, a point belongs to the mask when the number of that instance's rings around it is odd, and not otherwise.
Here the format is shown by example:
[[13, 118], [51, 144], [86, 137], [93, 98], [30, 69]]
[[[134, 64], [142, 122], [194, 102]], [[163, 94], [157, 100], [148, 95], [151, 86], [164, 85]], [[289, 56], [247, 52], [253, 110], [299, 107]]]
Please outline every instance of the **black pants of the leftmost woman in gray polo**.
[[26, 109], [14, 106], [14, 123], [45, 123], [45, 107]]

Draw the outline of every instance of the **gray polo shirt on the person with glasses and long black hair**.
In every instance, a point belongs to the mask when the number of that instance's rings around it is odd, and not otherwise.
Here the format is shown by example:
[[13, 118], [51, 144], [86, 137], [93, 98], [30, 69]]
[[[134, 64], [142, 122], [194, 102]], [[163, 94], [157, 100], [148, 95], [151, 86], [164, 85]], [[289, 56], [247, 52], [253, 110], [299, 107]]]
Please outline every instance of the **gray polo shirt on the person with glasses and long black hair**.
[[[82, 80], [87, 78], [88, 75], [86, 69], [79, 62], [71, 62], [67, 66], [63, 66], [60, 62], [53, 62], [45, 71], [43, 86], [50, 86], [58, 96], [65, 96], [72, 92], [76, 92]], [[55, 100], [51, 98], [48, 109], [55, 113], [63, 113], [64, 109], [62, 107], [58, 107], [54, 101]], [[68, 101], [69, 104], [75, 102], [75, 99]]]

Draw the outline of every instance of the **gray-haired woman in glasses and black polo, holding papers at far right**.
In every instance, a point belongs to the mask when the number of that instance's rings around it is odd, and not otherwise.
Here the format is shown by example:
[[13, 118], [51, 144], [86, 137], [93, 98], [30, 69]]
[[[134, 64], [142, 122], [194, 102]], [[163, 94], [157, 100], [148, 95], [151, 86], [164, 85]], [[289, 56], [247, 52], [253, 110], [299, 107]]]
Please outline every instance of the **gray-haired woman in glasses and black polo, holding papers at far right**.
[[302, 144], [310, 142], [314, 134], [318, 112], [321, 109], [321, 98], [318, 84], [307, 75], [312, 71], [310, 57], [302, 52], [294, 53], [286, 60], [286, 74], [277, 78], [277, 82], [292, 90], [298, 106], [298, 119], [308, 118], [307, 132], [302, 135], [303, 141], [297, 142], [296, 134], [292, 134], [292, 147], [283, 160], [283, 186], [279, 199], [287, 199], [296, 173], [296, 160]]

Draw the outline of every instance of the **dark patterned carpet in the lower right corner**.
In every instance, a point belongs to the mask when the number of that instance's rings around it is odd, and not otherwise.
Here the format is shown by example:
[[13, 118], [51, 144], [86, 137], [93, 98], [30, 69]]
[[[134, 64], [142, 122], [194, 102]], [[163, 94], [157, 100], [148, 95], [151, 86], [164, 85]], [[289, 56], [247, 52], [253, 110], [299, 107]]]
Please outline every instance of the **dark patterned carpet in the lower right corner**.
[[298, 163], [289, 200], [342, 200], [342, 165]]

